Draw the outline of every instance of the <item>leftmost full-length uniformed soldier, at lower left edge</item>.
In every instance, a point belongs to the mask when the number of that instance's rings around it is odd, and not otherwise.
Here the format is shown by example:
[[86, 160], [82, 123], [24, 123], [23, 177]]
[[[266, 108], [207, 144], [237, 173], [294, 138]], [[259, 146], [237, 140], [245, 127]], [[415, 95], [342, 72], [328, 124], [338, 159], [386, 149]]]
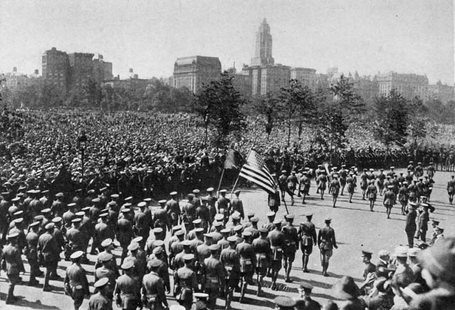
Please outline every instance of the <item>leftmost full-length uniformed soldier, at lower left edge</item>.
[[14, 232], [7, 236], [9, 244], [3, 248], [3, 260], [1, 261], [1, 267], [8, 276], [10, 285], [8, 287], [8, 296], [6, 296], [6, 304], [12, 304], [17, 301], [17, 297], [14, 296], [14, 287], [20, 282], [19, 273], [26, 272], [23, 268], [21, 250], [17, 244], [17, 237], [19, 234]]

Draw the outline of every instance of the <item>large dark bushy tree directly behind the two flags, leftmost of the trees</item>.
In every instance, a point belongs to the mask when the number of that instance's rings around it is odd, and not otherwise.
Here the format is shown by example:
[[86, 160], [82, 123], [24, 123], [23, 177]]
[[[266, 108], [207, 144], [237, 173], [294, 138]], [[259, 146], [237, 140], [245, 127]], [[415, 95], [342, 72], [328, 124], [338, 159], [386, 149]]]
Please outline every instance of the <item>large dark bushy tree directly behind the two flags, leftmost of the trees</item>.
[[205, 123], [205, 143], [209, 125], [216, 129], [216, 142], [223, 144], [231, 132], [239, 132], [243, 127], [241, 107], [245, 99], [232, 85], [232, 76], [228, 72], [221, 73], [220, 79], [205, 85], [197, 95], [196, 112]]

